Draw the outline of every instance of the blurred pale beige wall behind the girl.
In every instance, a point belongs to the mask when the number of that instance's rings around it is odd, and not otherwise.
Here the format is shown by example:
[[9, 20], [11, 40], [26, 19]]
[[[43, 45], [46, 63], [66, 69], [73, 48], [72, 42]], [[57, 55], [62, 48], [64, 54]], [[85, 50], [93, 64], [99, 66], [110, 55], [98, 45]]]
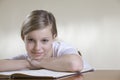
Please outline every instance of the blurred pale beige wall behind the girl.
[[58, 38], [95, 69], [120, 69], [120, 0], [0, 0], [0, 59], [25, 52], [20, 28], [35, 9], [52, 12]]

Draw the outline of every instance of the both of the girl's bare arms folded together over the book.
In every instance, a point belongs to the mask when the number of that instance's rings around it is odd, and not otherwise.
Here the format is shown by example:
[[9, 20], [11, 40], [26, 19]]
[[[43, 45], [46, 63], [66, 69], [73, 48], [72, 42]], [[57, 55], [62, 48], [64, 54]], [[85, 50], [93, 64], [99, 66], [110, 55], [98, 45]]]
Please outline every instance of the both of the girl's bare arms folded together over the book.
[[56, 71], [80, 71], [83, 68], [81, 56], [63, 55], [49, 57], [42, 60], [0, 60], [0, 71], [14, 71], [22, 69], [51, 69]]

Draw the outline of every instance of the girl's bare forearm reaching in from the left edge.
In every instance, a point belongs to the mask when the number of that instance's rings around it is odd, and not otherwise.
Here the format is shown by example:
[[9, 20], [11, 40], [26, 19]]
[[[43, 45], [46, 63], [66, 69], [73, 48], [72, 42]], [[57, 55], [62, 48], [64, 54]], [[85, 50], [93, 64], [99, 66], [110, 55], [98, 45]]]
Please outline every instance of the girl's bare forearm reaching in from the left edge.
[[0, 60], [0, 71], [27, 69], [27, 60]]

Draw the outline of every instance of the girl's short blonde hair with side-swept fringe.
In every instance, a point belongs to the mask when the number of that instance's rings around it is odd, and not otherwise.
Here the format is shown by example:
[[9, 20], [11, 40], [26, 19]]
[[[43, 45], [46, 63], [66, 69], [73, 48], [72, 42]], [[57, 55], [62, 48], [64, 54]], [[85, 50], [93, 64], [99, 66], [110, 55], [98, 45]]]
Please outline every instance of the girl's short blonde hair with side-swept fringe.
[[57, 37], [56, 20], [52, 13], [45, 10], [34, 10], [24, 20], [21, 28], [21, 37], [24, 40], [24, 35], [31, 31], [43, 29], [51, 25], [51, 32], [54, 37]]

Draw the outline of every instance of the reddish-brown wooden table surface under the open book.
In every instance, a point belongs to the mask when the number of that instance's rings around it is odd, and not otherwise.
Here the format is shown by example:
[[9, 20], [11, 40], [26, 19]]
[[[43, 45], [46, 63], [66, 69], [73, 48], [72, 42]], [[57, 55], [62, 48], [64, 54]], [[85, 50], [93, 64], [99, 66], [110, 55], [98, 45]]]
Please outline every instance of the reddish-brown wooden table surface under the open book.
[[[26, 80], [26, 79], [12, 79], [12, 80]], [[75, 75], [61, 79], [27, 79], [27, 80], [120, 80], [120, 70], [96, 70], [94, 72], [88, 72], [82, 75]]]

